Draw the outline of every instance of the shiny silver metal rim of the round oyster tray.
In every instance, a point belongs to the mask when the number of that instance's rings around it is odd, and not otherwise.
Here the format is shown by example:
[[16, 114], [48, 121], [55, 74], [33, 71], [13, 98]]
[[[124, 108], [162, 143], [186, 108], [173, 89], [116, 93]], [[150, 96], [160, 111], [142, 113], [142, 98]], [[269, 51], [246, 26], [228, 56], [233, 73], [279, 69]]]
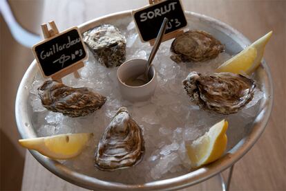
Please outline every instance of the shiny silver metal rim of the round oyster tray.
[[[227, 24], [222, 23], [221, 21], [194, 12], [186, 12], [186, 17], [189, 24], [196, 24], [201, 30], [206, 30], [220, 39], [222, 44], [226, 45], [227, 53], [231, 55], [238, 53], [250, 44], [249, 40], [241, 33], [231, 28]], [[88, 21], [87, 23], [80, 25], [79, 30], [83, 33], [84, 31], [98, 26], [99, 24], [114, 23], [120, 19], [129, 19], [129, 21], [131, 21], [131, 11], [118, 12], [113, 15], [107, 15], [92, 21]], [[32, 109], [28, 102], [28, 87], [30, 87], [30, 84], [32, 84], [38, 70], [37, 63], [34, 60], [23, 76], [17, 92], [15, 112], [17, 126], [22, 138], [37, 137], [36, 131], [34, 127], [32, 127]], [[74, 183], [88, 189], [172, 190], [195, 185], [196, 183], [200, 183], [211, 178], [212, 176], [222, 172], [236, 163], [236, 161], [242, 158], [242, 156], [244, 156], [249, 149], [251, 149], [251, 147], [256, 143], [260, 135], [263, 133], [273, 104], [273, 85], [271, 75], [269, 67], [264, 60], [256, 71], [256, 80], [258, 81], [258, 84], [260, 84], [260, 89], [263, 91], [264, 96], [260, 100], [259, 112], [252, 122], [250, 130], [245, 132], [245, 134], [234, 145], [231, 146], [231, 149], [227, 151], [227, 154], [222, 156], [222, 158], [220, 158], [218, 161], [182, 176], [161, 181], [152, 181], [144, 184], [127, 185], [111, 181], [102, 181], [96, 179], [95, 177], [75, 172], [58, 161], [47, 158], [38, 152], [32, 150], [30, 152], [37, 159], [37, 161], [41, 163], [41, 165], [50, 170], [50, 172], [53, 172], [53, 174], [56, 174], [61, 179], [65, 179], [70, 183]]]

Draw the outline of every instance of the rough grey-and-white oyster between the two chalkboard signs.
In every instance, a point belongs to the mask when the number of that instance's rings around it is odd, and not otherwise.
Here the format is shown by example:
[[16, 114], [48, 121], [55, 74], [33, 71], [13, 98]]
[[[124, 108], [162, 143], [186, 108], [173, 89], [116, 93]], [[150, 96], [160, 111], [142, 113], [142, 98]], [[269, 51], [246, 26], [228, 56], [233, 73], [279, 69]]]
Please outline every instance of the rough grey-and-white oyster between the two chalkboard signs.
[[83, 39], [95, 59], [106, 67], [120, 66], [126, 59], [126, 39], [115, 26], [102, 24], [86, 31]]

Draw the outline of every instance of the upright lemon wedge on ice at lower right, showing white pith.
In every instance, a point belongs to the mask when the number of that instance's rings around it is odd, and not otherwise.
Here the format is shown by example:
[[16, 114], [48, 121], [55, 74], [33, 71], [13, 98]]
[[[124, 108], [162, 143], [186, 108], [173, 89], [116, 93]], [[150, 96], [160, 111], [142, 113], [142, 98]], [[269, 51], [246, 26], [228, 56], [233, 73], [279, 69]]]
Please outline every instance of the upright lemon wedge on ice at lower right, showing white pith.
[[228, 122], [222, 120], [213, 125], [207, 133], [196, 139], [191, 145], [186, 145], [191, 166], [196, 168], [216, 161], [227, 148]]

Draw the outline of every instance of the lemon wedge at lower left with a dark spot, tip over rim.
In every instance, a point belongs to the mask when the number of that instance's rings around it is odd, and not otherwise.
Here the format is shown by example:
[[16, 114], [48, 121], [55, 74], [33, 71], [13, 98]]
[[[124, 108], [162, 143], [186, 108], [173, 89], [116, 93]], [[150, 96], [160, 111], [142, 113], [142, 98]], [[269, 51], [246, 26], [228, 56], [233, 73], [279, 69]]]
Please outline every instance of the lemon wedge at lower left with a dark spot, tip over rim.
[[39, 138], [20, 139], [19, 143], [27, 149], [53, 159], [68, 159], [79, 155], [93, 134], [61, 134]]

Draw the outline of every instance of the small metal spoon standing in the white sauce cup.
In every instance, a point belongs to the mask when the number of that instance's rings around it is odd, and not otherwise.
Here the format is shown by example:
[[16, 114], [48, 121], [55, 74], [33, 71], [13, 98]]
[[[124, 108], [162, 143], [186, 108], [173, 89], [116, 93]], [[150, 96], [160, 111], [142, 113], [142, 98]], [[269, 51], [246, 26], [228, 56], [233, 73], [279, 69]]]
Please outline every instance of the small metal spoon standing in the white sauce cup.
[[156, 37], [155, 44], [154, 44], [154, 46], [151, 50], [151, 53], [149, 55], [147, 65], [146, 65], [146, 69], [145, 69], [144, 73], [133, 80], [133, 82], [135, 82], [136, 84], [142, 84], [142, 82], [144, 82], [144, 84], [146, 84], [146, 82], [149, 82], [151, 80], [151, 79], [149, 79], [149, 71], [150, 71], [150, 68], [152, 66], [152, 61], [153, 61], [153, 59], [154, 59], [154, 57], [155, 57], [155, 55], [156, 55], [156, 53], [160, 47], [160, 44], [162, 42], [162, 38], [163, 38], [164, 33], [166, 31], [166, 24], [168, 23], [168, 21], [169, 21], [169, 19], [167, 19], [165, 17], [164, 21], [161, 25], [161, 28], [159, 30], [159, 33]]

